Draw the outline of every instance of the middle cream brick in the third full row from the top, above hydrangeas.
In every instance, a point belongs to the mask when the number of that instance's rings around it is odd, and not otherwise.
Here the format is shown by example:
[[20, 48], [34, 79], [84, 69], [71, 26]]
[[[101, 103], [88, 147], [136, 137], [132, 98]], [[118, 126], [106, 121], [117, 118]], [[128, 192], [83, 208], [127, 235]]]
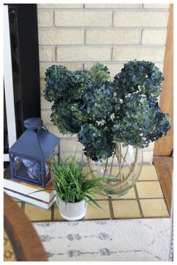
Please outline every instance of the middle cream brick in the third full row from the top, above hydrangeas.
[[110, 47], [58, 47], [60, 62], [109, 61]]

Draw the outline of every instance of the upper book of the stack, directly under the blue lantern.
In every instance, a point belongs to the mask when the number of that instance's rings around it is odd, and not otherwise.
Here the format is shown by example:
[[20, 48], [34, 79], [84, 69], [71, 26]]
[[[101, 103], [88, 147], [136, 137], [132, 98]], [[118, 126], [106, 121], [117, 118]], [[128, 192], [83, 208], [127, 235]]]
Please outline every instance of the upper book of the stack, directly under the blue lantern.
[[[49, 203], [56, 194], [51, 182], [48, 183], [47, 186], [45, 187], [46, 191], [40, 191], [40, 190], [43, 190], [44, 188], [31, 185], [28, 183], [20, 182], [17, 180], [12, 180], [11, 173], [10, 173], [10, 167], [4, 170], [4, 189], [9, 190], [11, 192], [20, 193], [23, 196], [29, 195], [31, 198], [45, 201], [47, 203]], [[47, 190], [47, 189], [53, 189], [53, 191]], [[34, 191], [40, 191], [40, 192], [32, 193]]]

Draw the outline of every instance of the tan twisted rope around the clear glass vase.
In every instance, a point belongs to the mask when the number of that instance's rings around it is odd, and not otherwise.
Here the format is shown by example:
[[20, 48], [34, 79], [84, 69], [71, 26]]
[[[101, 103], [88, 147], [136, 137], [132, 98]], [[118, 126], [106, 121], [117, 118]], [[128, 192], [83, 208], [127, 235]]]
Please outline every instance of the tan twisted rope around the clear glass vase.
[[[107, 188], [110, 188], [110, 189], [114, 189], [114, 188], [124, 188], [124, 185], [125, 183], [128, 182], [128, 180], [131, 178], [132, 174], [134, 174], [135, 170], [136, 170], [136, 167], [137, 167], [137, 164], [138, 164], [138, 158], [139, 158], [139, 149], [136, 148], [136, 153], [135, 153], [135, 161], [133, 163], [133, 166], [132, 168], [130, 168], [130, 172], [128, 173], [127, 177], [124, 178], [122, 181], [120, 181], [119, 183], [116, 183], [116, 184], [109, 184]], [[87, 157], [87, 163], [88, 163], [88, 167], [89, 167], [89, 170], [92, 171], [94, 170], [93, 169], [93, 164], [92, 164], [92, 160]], [[107, 161], [106, 161], [107, 163]], [[96, 174], [95, 173], [92, 173], [92, 177], [96, 177]]]

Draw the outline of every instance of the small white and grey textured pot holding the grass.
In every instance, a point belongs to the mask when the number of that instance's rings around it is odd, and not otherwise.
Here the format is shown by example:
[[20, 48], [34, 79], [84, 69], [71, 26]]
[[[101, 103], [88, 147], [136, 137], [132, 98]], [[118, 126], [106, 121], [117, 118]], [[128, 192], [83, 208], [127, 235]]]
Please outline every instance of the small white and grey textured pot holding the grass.
[[56, 203], [59, 208], [61, 216], [67, 221], [77, 221], [83, 218], [86, 213], [87, 203], [82, 200], [77, 203], [67, 203], [61, 200], [56, 194]]

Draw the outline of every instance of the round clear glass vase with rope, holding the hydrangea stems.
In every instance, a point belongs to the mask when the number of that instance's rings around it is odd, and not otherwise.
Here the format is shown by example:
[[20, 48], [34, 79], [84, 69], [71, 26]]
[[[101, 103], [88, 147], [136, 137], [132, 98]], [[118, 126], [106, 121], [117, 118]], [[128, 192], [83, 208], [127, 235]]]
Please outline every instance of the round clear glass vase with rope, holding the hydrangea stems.
[[[102, 193], [110, 197], [124, 196], [137, 182], [143, 163], [142, 149], [133, 148], [131, 145], [122, 147], [117, 145], [114, 155], [106, 160], [98, 162], [87, 159], [89, 170], [96, 170], [92, 177], [112, 177], [111, 180], [103, 180], [99, 189], [105, 185]], [[103, 186], [104, 185], [104, 186]]]

